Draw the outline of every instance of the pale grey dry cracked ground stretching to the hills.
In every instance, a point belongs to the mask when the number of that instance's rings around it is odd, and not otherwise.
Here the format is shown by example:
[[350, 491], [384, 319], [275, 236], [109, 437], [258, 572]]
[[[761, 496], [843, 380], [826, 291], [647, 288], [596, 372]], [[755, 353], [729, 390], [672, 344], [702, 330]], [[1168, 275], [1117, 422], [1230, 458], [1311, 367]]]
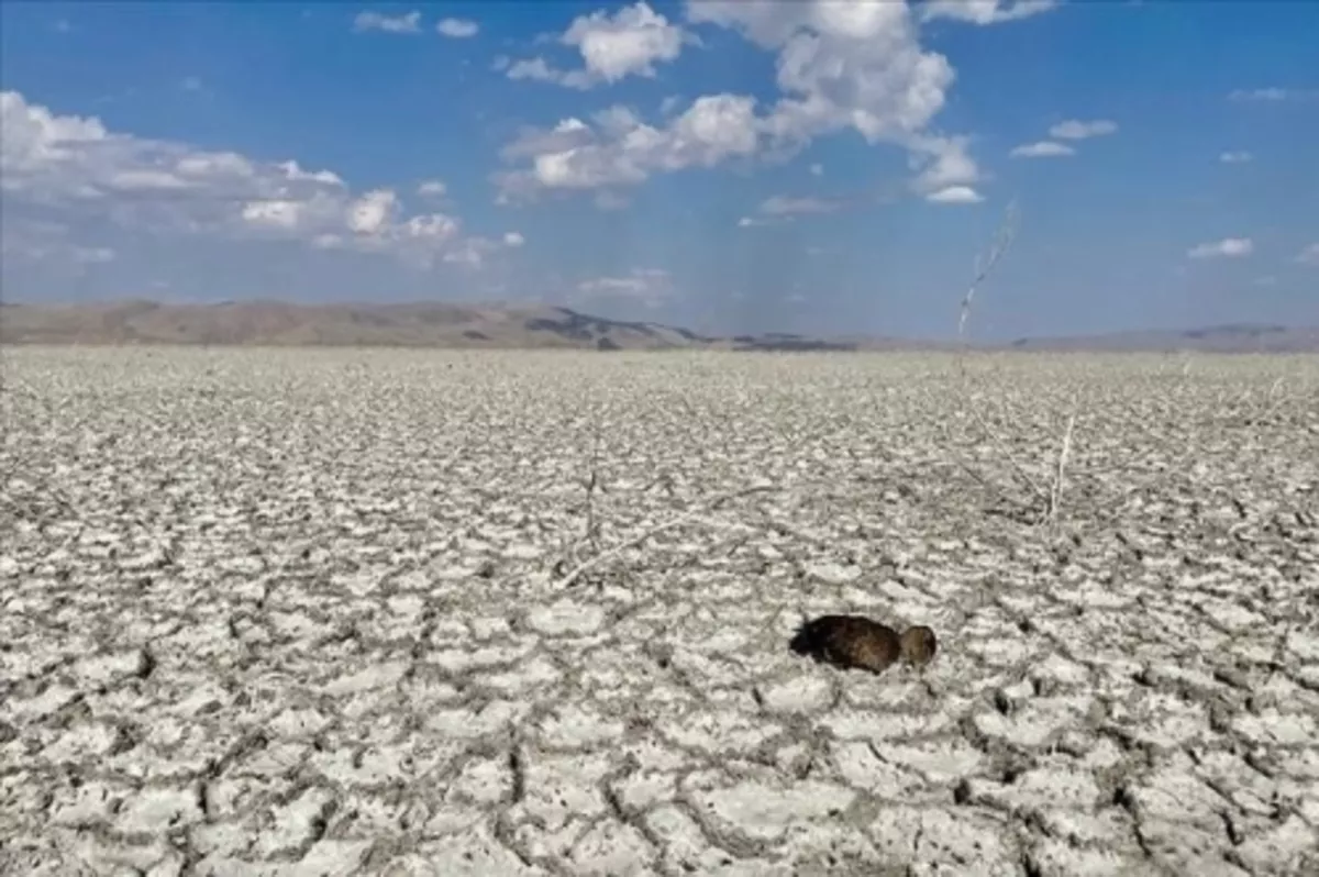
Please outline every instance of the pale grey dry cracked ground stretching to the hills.
[[0, 872], [1319, 873], [1319, 359], [960, 365], [4, 351]]

